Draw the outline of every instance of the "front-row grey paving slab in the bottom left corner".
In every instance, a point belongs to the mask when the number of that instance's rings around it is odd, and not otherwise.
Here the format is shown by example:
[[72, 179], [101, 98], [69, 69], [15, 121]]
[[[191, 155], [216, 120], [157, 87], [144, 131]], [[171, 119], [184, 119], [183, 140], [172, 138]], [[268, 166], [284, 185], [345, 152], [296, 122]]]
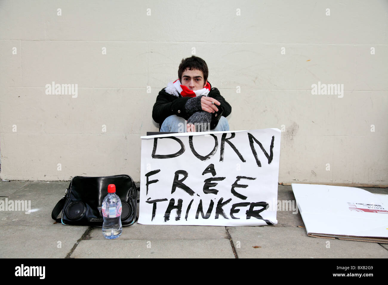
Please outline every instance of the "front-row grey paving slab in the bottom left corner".
[[87, 226], [0, 226], [0, 258], [64, 258]]

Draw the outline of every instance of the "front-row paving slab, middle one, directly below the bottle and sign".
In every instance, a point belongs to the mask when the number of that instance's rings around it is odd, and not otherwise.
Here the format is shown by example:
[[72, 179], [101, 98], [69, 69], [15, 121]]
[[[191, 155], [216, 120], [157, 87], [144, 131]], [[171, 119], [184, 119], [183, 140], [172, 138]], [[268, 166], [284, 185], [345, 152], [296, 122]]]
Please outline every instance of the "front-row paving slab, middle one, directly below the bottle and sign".
[[228, 239], [81, 240], [71, 258], [234, 258]]

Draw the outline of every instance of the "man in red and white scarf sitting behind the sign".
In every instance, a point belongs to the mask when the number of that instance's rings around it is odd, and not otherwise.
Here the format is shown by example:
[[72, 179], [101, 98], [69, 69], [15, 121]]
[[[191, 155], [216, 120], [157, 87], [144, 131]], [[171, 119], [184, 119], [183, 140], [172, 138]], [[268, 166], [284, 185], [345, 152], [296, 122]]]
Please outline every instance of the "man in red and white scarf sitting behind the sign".
[[178, 68], [178, 78], [163, 88], [152, 109], [161, 132], [229, 131], [232, 112], [217, 88], [208, 82], [208, 66], [193, 55]]

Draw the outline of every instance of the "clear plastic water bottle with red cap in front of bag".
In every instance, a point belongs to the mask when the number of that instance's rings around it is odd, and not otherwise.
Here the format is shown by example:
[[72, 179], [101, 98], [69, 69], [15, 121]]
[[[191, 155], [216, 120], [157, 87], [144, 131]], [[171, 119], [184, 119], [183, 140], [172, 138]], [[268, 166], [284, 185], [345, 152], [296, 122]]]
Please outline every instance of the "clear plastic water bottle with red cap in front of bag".
[[102, 234], [104, 237], [113, 239], [121, 235], [121, 201], [116, 195], [116, 185], [108, 185], [108, 195], [102, 200]]

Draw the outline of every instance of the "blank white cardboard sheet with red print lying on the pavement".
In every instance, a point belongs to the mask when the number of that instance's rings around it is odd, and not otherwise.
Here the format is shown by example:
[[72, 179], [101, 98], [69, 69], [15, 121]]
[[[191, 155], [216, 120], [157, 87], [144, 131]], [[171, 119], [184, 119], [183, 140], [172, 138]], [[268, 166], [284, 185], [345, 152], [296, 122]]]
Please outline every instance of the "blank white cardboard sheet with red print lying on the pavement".
[[355, 187], [291, 186], [307, 234], [388, 238], [387, 195]]

